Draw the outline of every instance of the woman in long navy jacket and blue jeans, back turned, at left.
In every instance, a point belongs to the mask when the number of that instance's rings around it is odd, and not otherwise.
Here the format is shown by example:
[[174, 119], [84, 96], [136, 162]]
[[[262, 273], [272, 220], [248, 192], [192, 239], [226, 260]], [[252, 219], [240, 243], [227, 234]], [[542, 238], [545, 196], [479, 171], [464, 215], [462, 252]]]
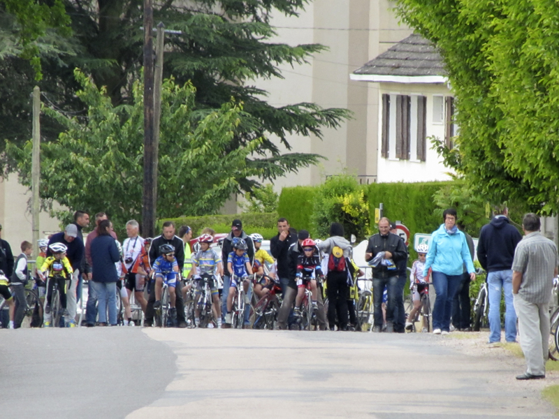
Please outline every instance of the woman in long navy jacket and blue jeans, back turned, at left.
[[99, 325], [107, 325], [107, 304], [109, 324], [117, 324], [117, 268], [119, 251], [115, 239], [110, 235], [110, 221], [103, 220], [97, 226], [97, 237], [92, 242], [92, 284], [98, 298]]

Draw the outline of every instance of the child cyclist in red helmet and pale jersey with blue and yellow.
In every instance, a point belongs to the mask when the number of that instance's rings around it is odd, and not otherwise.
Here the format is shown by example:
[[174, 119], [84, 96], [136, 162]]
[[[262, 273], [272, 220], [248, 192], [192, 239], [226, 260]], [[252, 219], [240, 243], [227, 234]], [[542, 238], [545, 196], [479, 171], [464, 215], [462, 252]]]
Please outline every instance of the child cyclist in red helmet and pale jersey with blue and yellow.
[[210, 244], [214, 241], [214, 238], [209, 234], [203, 234], [198, 239], [200, 243], [200, 250], [194, 254], [192, 258], [192, 275], [194, 281], [196, 281], [196, 295], [194, 297], [194, 324], [196, 327], [200, 325], [200, 309], [198, 309], [198, 300], [202, 293], [201, 279], [203, 276], [209, 276], [209, 286], [210, 292], [212, 293], [212, 309], [215, 310], [217, 328], [222, 327], [222, 308], [219, 304], [219, 291], [217, 291], [217, 286], [215, 284], [215, 274], [223, 275], [223, 265], [222, 258], [215, 252], [214, 249], [210, 249]]

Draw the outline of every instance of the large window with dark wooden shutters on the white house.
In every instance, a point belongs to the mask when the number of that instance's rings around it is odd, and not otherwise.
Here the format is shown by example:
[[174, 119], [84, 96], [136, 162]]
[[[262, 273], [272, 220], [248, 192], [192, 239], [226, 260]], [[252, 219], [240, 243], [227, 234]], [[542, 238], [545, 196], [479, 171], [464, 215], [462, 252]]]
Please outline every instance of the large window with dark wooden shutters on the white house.
[[381, 156], [425, 161], [425, 96], [382, 95]]

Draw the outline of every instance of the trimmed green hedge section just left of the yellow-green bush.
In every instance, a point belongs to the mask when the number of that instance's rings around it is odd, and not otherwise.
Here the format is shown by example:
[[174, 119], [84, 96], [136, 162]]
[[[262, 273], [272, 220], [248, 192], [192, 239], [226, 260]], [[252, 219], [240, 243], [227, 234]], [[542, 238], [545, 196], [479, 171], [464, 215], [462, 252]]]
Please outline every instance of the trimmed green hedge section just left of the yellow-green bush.
[[314, 186], [295, 186], [282, 189], [277, 205], [279, 216], [285, 217], [289, 225], [297, 230], [309, 229], [314, 199], [318, 188]]

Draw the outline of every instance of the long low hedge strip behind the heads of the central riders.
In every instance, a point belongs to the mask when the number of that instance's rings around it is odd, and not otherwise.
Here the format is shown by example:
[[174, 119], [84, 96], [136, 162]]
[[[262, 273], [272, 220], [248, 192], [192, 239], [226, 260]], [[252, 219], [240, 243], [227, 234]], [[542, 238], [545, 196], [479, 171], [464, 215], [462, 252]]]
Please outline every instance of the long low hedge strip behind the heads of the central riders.
[[205, 227], [213, 228], [216, 233], [228, 233], [231, 231], [231, 223], [234, 219], [242, 221], [242, 229], [245, 232], [260, 233], [264, 238], [277, 234], [277, 218], [275, 212], [231, 214], [231, 215], [206, 215], [206, 216], [183, 216], [174, 219], [160, 219], [157, 221], [157, 230], [165, 221], [173, 221], [177, 230], [180, 226], [187, 225], [192, 228], [194, 237], [198, 236]]

